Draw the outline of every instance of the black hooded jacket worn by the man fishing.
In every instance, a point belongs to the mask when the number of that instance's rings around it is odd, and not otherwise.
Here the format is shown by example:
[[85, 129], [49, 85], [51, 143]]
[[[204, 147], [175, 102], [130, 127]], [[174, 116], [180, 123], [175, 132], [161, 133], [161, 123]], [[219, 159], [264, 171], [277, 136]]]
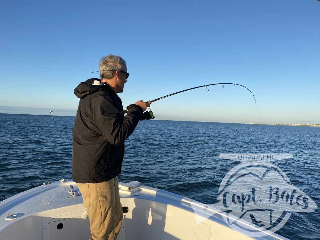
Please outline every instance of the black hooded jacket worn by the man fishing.
[[80, 98], [72, 132], [72, 178], [76, 183], [98, 183], [121, 173], [124, 140], [137, 126], [142, 108], [130, 105], [126, 116], [121, 99], [108, 84], [92, 85], [98, 78], [80, 83]]

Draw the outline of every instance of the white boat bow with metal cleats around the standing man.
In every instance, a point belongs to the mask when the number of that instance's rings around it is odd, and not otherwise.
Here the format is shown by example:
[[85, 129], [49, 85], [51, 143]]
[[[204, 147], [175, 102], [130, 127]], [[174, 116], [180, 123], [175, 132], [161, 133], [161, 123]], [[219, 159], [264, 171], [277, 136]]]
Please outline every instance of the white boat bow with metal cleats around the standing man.
[[[119, 182], [119, 192], [123, 221], [117, 240], [287, 240], [210, 205], [140, 186], [137, 181]], [[251, 235], [234, 230], [228, 220], [250, 230]], [[89, 223], [81, 192], [67, 177], [45, 182], [0, 202], [1, 240], [89, 239]]]

